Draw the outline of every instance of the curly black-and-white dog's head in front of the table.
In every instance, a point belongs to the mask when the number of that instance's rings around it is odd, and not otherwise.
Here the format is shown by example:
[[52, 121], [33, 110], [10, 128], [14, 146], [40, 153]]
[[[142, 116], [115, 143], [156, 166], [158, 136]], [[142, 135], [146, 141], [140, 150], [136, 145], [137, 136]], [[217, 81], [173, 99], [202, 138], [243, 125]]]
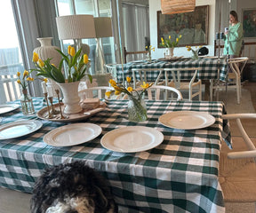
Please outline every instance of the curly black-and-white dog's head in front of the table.
[[60, 164], [36, 180], [32, 213], [117, 213], [105, 178], [84, 162]]

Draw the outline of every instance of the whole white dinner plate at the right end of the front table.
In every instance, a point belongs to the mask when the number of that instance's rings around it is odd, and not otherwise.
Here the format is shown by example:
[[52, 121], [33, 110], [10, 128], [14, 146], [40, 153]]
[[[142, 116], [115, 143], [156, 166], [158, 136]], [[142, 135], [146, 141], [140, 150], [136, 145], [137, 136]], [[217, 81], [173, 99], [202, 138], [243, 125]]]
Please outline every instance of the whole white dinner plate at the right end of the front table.
[[180, 130], [196, 130], [211, 126], [215, 118], [208, 113], [197, 111], [174, 111], [158, 119], [166, 127]]

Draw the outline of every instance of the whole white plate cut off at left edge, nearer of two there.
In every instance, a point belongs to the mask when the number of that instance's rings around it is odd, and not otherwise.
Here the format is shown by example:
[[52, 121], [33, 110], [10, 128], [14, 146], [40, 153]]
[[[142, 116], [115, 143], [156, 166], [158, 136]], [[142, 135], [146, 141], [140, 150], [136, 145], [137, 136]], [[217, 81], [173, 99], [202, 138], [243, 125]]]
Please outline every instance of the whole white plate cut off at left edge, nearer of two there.
[[36, 120], [10, 122], [0, 126], [0, 139], [19, 138], [42, 127], [43, 123]]

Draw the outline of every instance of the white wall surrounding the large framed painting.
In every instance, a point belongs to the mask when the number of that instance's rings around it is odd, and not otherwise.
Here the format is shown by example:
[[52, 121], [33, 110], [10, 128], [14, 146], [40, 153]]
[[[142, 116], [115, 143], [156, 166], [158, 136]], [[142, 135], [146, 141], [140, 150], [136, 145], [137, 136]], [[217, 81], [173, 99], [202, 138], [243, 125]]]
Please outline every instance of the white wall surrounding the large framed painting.
[[[255, 1], [255, 0], [252, 0]], [[208, 31], [208, 45], [209, 55], [213, 55], [214, 51], [214, 35], [215, 35], [215, 0], [196, 0], [196, 6], [209, 5], [209, 31]], [[150, 22], [150, 42], [156, 47], [156, 51], [152, 52], [153, 59], [164, 57], [164, 48], [157, 48], [157, 11], [161, 11], [160, 0], [149, 0], [149, 22]], [[187, 51], [186, 47], [178, 47], [174, 49], [174, 56], [191, 56], [191, 52]]]

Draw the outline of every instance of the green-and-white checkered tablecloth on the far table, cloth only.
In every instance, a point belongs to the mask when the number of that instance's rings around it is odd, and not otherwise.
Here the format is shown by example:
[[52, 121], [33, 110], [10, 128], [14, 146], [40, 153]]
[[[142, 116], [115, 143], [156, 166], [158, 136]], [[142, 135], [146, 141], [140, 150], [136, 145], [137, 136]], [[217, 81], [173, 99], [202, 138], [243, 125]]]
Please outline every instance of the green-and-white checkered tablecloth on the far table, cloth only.
[[[226, 80], [227, 75], [227, 62], [226, 59], [196, 59], [196, 60], [178, 60], [172, 62], [152, 60], [152, 62], [141, 61], [129, 62], [124, 64], [124, 80], [126, 76], [132, 76], [132, 68], [185, 68], [185, 67], [202, 67], [202, 70], [198, 70], [197, 77], [201, 80], [218, 79], [218, 68], [220, 67], [220, 81]], [[152, 72], [147, 75], [149, 82], [155, 82], [158, 73]], [[182, 71], [180, 73], [180, 79], [191, 79], [194, 75], [193, 72]], [[116, 76], [118, 82], [123, 82], [123, 68], [122, 65], [116, 66]], [[136, 74], [136, 78], [140, 79], [140, 75]], [[164, 79], [164, 73], [161, 79]]]

